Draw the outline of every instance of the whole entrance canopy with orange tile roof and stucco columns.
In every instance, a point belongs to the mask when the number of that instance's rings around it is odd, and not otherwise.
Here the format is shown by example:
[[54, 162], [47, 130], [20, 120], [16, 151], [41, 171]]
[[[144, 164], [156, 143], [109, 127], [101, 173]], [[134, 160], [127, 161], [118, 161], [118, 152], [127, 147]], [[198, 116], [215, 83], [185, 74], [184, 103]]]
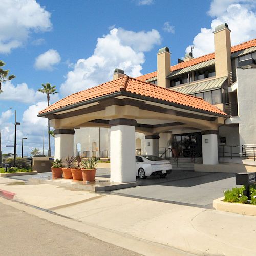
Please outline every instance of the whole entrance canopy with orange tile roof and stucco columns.
[[158, 134], [176, 129], [202, 133], [203, 163], [218, 163], [218, 127], [227, 114], [201, 98], [129, 76], [74, 93], [40, 111], [55, 129], [55, 158], [73, 155], [74, 129], [110, 127], [111, 181], [135, 181], [135, 131], [144, 133], [148, 154], [158, 154]]

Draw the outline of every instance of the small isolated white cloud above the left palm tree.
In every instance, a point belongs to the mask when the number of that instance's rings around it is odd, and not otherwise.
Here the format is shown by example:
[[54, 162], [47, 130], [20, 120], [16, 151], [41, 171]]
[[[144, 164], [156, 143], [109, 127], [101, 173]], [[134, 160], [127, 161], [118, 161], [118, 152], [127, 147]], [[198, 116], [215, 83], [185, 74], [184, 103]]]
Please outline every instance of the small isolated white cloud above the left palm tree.
[[54, 49], [50, 49], [36, 57], [34, 67], [39, 70], [52, 71], [53, 66], [57, 65], [60, 60], [59, 53]]

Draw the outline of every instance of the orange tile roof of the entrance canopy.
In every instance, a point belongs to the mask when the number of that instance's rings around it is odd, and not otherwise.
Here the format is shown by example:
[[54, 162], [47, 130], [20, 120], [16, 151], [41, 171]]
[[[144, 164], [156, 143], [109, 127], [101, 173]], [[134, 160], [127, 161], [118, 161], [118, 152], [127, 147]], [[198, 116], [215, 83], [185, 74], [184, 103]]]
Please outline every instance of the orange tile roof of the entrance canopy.
[[222, 110], [216, 106], [204, 101], [201, 98], [186, 95], [183, 93], [175, 92], [154, 84], [140, 81], [135, 78], [123, 76], [117, 80], [100, 84], [99, 86], [89, 88], [74, 94], [69, 95], [66, 98], [59, 100], [58, 102], [50, 105], [48, 108], [39, 112], [39, 114], [47, 113], [53, 110], [64, 108], [79, 102], [84, 102], [90, 99], [98, 98], [104, 95], [112, 94], [115, 92], [130, 92], [133, 94], [146, 96], [154, 99], [168, 101], [176, 103], [178, 105], [188, 106], [195, 110], [209, 111], [221, 115], [226, 115]]

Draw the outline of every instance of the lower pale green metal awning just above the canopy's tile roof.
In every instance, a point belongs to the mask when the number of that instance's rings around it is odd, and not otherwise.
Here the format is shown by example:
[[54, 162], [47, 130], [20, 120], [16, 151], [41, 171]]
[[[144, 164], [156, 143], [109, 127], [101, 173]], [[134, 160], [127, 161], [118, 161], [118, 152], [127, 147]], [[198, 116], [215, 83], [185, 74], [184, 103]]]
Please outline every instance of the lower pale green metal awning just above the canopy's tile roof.
[[179, 88], [170, 88], [176, 92], [185, 93], [185, 94], [194, 94], [194, 93], [202, 93], [211, 90], [216, 90], [219, 88], [227, 87], [227, 77], [221, 77], [217, 79], [212, 79], [205, 82], [200, 82], [196, 84], [190, 84], [190, 86], [183, 86]]

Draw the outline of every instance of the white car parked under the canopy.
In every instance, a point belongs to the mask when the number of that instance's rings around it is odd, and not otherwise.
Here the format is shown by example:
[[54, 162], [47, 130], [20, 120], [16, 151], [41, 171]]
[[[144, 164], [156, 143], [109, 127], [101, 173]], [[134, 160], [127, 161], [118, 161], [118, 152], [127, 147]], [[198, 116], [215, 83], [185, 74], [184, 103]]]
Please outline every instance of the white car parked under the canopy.
[[153, 155], [136, 156], [136, 176], [145, 179], [147, 176], [165, 177], [172, 172], [172, 164], [168, 160]]

